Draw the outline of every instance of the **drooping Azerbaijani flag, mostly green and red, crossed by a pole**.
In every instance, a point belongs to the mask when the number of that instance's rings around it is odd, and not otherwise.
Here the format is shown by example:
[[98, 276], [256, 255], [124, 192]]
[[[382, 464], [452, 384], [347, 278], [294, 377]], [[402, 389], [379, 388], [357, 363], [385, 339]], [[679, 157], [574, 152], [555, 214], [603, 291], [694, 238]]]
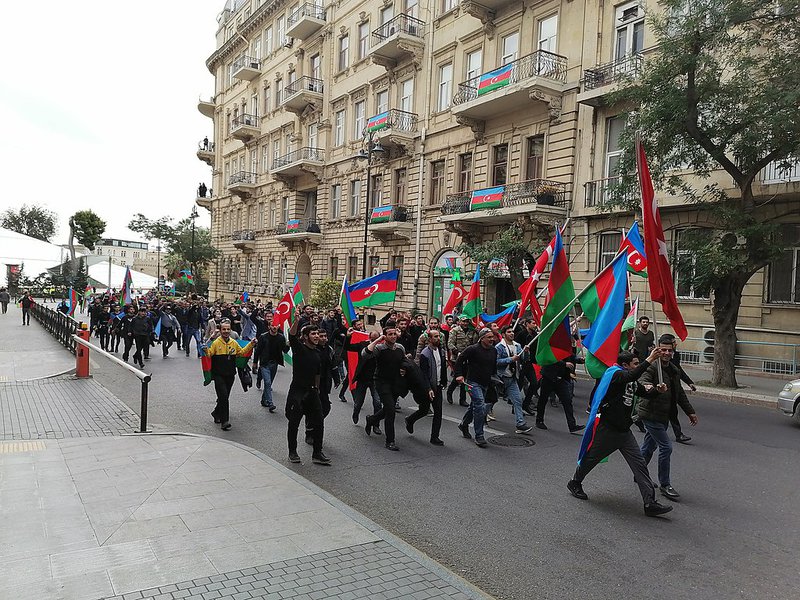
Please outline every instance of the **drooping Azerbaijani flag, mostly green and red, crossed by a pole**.
[[575, 286], [569, 273], [567, 253], [556, 231], [553, 261], [547, 282], [547, 304], [542, 316], [542, 330], [536, 345], [536, 362], [552, 365], [572, 354], [572, 336], [569, 331], [569, 310], [575, 302]]

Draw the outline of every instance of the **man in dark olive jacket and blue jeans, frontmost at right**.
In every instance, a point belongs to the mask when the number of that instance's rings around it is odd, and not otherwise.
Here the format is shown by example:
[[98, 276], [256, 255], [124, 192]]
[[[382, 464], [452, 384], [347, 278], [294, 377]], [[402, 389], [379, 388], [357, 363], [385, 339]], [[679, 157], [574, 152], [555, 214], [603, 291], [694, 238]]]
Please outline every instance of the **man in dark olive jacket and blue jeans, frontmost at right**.
[[670, 477], [672, 440], [667, 435], [670, 412], [673, 405], [677, 404], [693, 426], [697, 425], [698, 419], [681, 386], [680, 369], [672, 364], [672, 336], [662, 335], [658, 340], [658, 347], [661, 351], [658, 362], [650, 365], [639, 380], [641, 387], [638, 413], [645, 428], [641, 450], [645, 463], [649, 464], [656, 447], [658, 448], [658, 483], [661, 493], [670, 500], [678, 500], [680, 494], [672, 487]]

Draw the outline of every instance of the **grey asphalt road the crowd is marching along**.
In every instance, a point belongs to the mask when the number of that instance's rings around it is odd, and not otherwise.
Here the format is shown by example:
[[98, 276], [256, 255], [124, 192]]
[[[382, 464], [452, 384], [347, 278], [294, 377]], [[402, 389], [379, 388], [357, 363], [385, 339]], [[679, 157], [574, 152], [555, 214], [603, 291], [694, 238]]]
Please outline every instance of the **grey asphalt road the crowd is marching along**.
[[[237, 381], [233, 429], [223, 432], [209, 415], [214, 392], [202, 386], [199, 361], [174, 352], [163, 360], [159, 349], [153, 356], [151, 422], [229, 438], [289, 464], [286, 420], [280, 409], [260, 406], [259, 392], [245, 394]], [[107, 361], [93, 374], [138, 411], [137, 379]], [[277, 376], [281, 407], [290, 376], [287, 369]], [[579, 382], [579, 422], [588, 392]], [[588, 502], [572, 498], [565, 484], [580, 437], [567, 432], [561, 409], [549, 407], [550, 429], [534, 430], [534, 446], [482, 450], [446, 420], [446, 445], [437, 448], [428, 443], [428, 420], [413, 437], [403, 429], [407, 400], [398, 415], [401, 451], [389, 452], [382, 437], [353, 425], [351, 402], [334, 398], [325, 433], [333, 466], [312, 465], [301, 441], [304, 464], [291, 468], [497, 598], [796, 598], [800, 428], [769, 409], [691, 399], [700, 424], [686, 423], [694, 440], [673, 452], [682, 500], [668, 518], [643, 515], [618, 454], [585, 481]], [[445, 418], [462, 410], [446, 405]], [[508, 406], [496, 413], [492, 427], [513, 433]]]

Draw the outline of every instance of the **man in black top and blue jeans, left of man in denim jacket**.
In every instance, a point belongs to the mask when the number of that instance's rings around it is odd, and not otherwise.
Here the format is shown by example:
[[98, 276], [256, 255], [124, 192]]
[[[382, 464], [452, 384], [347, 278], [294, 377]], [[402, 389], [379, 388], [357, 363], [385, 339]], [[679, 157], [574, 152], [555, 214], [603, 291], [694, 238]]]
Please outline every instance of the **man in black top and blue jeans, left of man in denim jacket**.
[[497, 351], [494, 348], [496, 338], [488, 327], [478, 333], [478, 343], [467, 346], [456, 359], [453, 370], [455, 380], [460, 385], [467, 386], [470, 405], [458, 428], [461, 435], [470, 439], [469, 424], [473, 423], [475, 429], [475, 443], [479, 448], [486, 448], [488, 444], [483, 437], [483, 426], [486, 423], [486, 413], [489, 406], [486, 404], [486, 391], [492, 384], [492, 375], [497, 370]]

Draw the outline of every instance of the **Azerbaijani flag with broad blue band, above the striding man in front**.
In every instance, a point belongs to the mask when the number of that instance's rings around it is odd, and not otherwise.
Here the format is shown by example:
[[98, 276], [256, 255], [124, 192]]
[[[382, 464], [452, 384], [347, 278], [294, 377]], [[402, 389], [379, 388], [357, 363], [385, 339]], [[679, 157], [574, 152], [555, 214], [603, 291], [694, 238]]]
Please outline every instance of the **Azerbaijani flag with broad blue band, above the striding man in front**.
[[[604, 280], [606, 289], [598, 291], [598, 282], [589, 286], [587, 292], [595, 288], [592, 296], [604, 296], [600, 309], [594, 316], [590, 316], [584, 309], [584, 314], [592, 322], [589, 333], [583, 340], [586, 348], [586, 371], [594, 379], [603, 376], [606, 369], [617, 362], [620, 338], [622, 337], [622, 322], [625, 320], [625, 296], [628, 295], [628, 261], [624, 254], [620, 254], [606, 268]], [[583, 297], [583, 296], [582, 296]], [[581, 304], [583, 306], [583, 304]]]

